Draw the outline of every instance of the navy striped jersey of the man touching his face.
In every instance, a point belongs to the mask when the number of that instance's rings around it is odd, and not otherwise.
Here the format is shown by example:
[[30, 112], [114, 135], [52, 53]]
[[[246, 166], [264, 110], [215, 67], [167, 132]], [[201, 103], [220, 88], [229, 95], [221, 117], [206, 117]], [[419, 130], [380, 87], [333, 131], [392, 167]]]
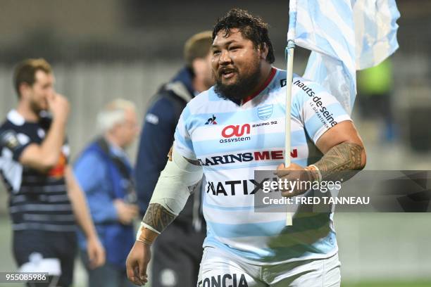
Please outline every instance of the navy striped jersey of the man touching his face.
[[65, 141], [57, 164], [39, 172], [20, 163], [30, 144], [42, 144], [51, 127], [51, 117], [27, 122], [11, 110], [0, 125], [0, 176], [9, 191], [12, 229], [75, 232], [75, 216], [65, 183], [70, 147]]

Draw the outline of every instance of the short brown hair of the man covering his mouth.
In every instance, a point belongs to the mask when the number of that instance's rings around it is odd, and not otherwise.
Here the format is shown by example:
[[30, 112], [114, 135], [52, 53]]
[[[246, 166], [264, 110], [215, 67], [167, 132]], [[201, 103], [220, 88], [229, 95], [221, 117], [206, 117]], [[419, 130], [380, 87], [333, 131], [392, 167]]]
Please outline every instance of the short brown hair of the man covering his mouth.
[[23, 83], [26, 83], [29, 86], [35, 84], [35, 75], [39, 70], [46, 72], [46, 74], [50, 74], [52, 72], [51, 65], [49, 65], [49, 63], [43, 58], [26, 59], [15, 66], [15, 70], [13, 72], [13, 87], [15, 87], [18, 98], [21, 96], [20, 85]]

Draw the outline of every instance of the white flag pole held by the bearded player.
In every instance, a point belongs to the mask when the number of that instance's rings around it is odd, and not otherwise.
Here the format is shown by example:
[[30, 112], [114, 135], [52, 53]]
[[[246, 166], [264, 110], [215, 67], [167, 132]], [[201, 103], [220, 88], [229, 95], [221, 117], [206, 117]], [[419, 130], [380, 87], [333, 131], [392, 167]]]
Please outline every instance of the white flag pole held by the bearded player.
[[[290, 165], [290, 150], [291, 150], [291, 139], [290, 139], [290, 110], [292, 107], [292, 82], [293, 82], [293, 59], [294, 59], [295, 42], [290, 39], [287, 41], [286, 46], [286, 60], [287, 60], [287, 76], [286, 76], [286, 117], [285, 117], [285, 167]], [[293, 212], [287, 212], [286, 214], [286, 226], [293, 224], [292, 222]]]

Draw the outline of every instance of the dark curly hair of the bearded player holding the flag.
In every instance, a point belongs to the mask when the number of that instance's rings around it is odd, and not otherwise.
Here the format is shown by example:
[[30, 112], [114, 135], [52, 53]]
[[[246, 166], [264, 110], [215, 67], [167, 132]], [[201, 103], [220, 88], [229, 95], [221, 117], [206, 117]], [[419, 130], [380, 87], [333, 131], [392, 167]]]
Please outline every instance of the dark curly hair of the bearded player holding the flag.
[[251, 40], [256, 47], [265, 43], [268, 46], [266, 61], [270, 64], [274, 63], [274, 48], [269, 39], [268, 24], [263, 22], [262, 18], [251, 15], [245, 10], [232, 8], [222, 18], [218, 18], [213, 27], [213, 39], [220, 30], [224, 30], [225, 37], [229, 37], [232, 28], [237, 28], [242, 37]]

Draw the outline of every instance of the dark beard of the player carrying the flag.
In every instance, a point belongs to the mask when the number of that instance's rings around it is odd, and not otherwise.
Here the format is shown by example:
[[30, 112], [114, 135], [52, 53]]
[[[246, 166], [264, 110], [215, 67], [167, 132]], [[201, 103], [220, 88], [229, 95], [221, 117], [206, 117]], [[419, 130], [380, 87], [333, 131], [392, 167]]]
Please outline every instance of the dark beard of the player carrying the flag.
[[214, 91], [220, 98], [230, 101], [240, 101], [249, 96], [250, 91], [256, 87], [256, 84], [261, 79], [261, 62], [257, 61], [251, 65], [251, 72], [249, 75], [241, 75], [235, 68], [234, 72], [237, 73], [237, 80], [232, 84], [223, 84], [222, 76], [215, 77]]

